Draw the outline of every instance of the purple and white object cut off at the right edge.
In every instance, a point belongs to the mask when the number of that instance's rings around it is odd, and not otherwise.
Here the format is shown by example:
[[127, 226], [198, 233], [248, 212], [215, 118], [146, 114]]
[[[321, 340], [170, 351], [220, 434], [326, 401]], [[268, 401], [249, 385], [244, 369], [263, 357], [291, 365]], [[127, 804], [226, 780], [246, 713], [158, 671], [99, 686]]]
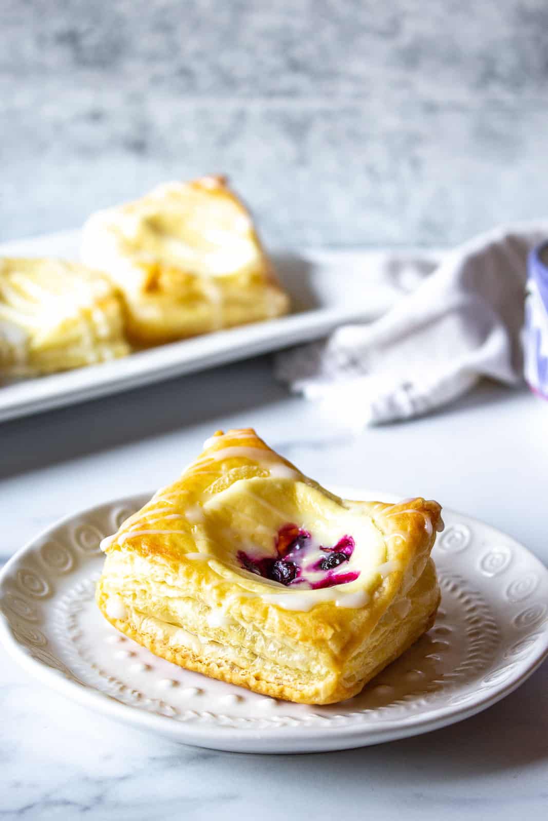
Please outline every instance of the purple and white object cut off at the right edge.
[[523, 333], [525, 378], [534, 392], [548, 399], [548, 242], [531, 251], [527, 273]]

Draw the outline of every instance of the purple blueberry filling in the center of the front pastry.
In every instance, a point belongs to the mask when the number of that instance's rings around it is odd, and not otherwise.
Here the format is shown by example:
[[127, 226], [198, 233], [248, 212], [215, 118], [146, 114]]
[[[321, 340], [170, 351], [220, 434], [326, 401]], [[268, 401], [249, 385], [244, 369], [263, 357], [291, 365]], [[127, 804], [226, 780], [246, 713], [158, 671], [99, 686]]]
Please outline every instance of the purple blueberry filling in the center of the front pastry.
[[[314, 546], [307, 530], [288, 524], [280, 528], [274, 540], [274, 548], [277, 557], [256, 558], [241, 550], [237, 554], [238, 562], [246, 571], [277, 581], [286, 587], [303, 585], [306, 588], [321, 589], [348, 584], [360, 575], [359, 571], [333, 572], [352, 556], [355, 548], [352, 536], [343, 536], [333, 547], [318, 546], [317, 542]], [[318, 549], [325, 553], [319, 559]], [[321, 577], [321, 573], [325, 573], [325, 576]]]

